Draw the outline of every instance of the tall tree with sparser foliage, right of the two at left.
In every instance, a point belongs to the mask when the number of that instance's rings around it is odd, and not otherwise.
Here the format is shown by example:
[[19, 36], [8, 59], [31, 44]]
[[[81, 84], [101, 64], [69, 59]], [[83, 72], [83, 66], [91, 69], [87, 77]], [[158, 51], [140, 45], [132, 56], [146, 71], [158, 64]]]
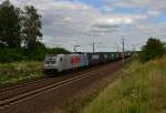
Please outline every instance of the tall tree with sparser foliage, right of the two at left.
[[22, 35], [28, 49], [34, 49], [37, 42], [42, 40], [41, 29], [41, 16], [38, 10], [33, 6], [24, 7]]

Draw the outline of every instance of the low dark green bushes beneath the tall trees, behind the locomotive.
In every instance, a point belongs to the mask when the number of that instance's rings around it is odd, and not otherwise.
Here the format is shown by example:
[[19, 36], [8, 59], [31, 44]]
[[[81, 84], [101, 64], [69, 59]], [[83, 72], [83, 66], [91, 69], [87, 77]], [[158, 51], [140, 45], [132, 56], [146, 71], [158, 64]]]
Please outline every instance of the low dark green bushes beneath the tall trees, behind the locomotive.
[[62, 48], [45, 48], [42, 43], [37, 43], [34, 49], [24, 48], [0, 48], [0, 62], [11, 63], [17, 61], [43, 61], [45, 54], [70, 53]]

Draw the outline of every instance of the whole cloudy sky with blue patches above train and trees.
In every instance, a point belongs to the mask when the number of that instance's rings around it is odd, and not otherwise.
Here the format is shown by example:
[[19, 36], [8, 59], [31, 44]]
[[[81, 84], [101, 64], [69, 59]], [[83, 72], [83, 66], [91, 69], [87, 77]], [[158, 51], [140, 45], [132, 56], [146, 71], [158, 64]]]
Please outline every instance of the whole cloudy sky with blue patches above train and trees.
[[[2, 2], [3, 0], [0, 0]], [[10, 0], [42, 16], [43, 43], [73, 51], [137, 50], [148, 38], [166, 38], [166, 0]]]

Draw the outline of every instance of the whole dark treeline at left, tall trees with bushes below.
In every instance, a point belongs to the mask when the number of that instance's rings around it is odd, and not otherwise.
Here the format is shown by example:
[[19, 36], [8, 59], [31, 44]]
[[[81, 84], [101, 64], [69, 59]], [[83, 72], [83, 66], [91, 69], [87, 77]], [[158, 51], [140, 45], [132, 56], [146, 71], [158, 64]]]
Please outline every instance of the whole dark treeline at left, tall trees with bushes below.
[[42, 43], [41, 19], [33, 6], [21, 9], [9, 0], [0, 4], [0, 62], [43, 60], [45, 54], [69, 53]]

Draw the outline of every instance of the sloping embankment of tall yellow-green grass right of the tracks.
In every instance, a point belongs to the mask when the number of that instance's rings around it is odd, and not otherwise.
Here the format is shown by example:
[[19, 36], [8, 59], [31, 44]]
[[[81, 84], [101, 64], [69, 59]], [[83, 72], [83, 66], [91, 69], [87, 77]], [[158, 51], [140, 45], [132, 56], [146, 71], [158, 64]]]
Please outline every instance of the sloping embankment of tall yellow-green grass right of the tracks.
[[166, 113], [166, 58], [133, 62], [84, 113]]

